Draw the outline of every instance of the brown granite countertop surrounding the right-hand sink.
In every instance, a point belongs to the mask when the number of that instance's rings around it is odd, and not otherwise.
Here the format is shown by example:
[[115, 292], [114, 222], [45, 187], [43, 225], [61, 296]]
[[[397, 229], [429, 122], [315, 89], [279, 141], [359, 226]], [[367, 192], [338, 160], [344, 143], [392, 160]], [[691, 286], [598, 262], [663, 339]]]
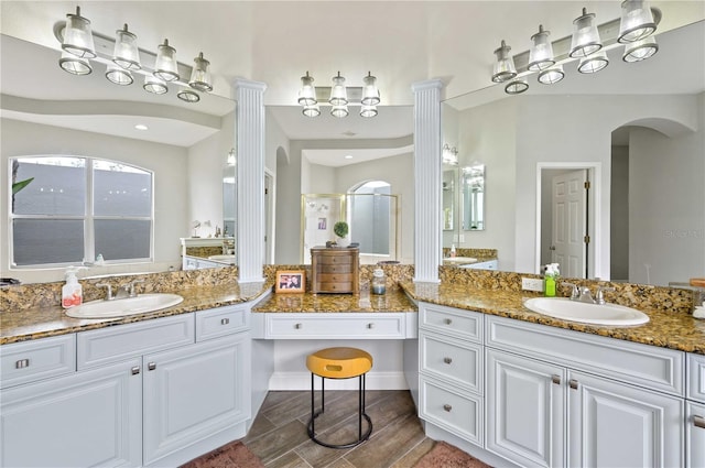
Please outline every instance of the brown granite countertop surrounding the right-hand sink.
[[693, 318], [690, 314], [641, 309], [649, 316], [648, 324], [629, 327], [595, 326], [561, 320], [531, 312], [523, 306], [523, 301], [536, 297], [530, 293], [413, 282], [402, 282], [401, 286], [410, 296], [420, 302], [705, 355], [705, 320]]

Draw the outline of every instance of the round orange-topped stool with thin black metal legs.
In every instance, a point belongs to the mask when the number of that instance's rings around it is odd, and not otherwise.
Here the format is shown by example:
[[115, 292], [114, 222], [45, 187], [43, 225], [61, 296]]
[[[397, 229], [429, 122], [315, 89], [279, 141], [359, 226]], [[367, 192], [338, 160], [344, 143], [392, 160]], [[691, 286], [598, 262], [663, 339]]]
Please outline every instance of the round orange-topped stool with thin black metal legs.
[[[357, 348], [326, 348], [308, 355], [306, 367], [311, 371], [311, 420], [308, 420], [308, 437], [318, 445], [328, 448], [350, 448], [360, 445], [372, 434], [372, 420], [365, 413], [365, 374], [372, 369], [372, 357], [369, 352]], [[316, 412], [314, 376], [321, 377], [321, 411]], [[315, 420], [325, 411], [326, 379], [359, 379], [357, 440], [348, 444], [328, 444], [316, 437]], [[362, 433], [362, 418], [367, 421], [367, 431]]]

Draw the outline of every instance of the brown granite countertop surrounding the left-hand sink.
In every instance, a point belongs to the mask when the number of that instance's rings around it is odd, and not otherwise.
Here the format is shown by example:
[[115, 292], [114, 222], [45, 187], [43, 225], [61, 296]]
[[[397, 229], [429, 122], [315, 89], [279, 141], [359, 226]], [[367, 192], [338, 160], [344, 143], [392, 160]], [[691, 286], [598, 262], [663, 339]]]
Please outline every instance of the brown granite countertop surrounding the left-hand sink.
[[173, 307], [117, 318], [72, 318], [61, 306], [6, 311], [0, 314], [0, 345], [240, 304], [258, 298], [271, 287], [271, 284], [264, 283], [240, 285], [237, 282], [191, 286], [174, 291], [184, 301]]

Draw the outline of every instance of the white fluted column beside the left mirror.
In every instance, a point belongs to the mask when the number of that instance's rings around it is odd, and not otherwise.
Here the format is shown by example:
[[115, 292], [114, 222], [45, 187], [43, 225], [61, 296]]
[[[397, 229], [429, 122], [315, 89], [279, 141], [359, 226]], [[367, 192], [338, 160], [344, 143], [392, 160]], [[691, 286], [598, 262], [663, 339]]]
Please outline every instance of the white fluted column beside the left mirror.
[[237, 259], [240, 283], [263, 281], [264, 90], [263, 83], [237, 79]]

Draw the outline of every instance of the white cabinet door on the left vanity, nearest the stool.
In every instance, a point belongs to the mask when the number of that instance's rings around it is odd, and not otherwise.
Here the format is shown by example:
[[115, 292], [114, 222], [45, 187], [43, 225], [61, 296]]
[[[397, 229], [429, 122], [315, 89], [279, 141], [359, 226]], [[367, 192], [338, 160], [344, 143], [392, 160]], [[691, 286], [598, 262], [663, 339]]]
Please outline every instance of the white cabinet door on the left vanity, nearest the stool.
[[249, 418], [247, 334], [143, 357], [144, 465]]

